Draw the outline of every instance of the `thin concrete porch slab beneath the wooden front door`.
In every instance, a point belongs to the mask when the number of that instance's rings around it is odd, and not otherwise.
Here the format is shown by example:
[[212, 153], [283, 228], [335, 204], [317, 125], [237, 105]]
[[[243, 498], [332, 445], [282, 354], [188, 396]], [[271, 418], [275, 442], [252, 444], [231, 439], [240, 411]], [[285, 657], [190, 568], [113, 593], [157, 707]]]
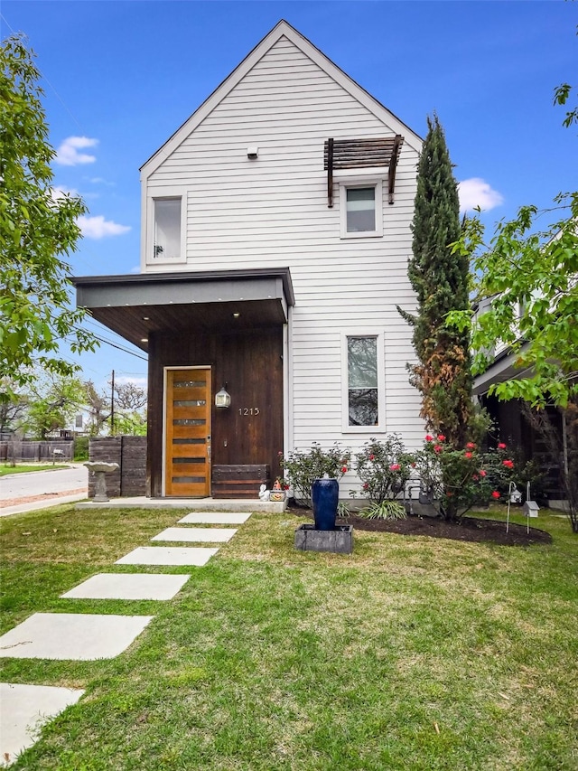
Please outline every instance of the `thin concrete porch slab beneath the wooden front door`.
[[142, 496], [113, 498], [107, 503], [82, 501], [75, 508], [80, 511], [98, 511], [98, 509], [189, 509], [190, 512], [260, 512], [282, 514], [287, 502], [272, 503], [252, 501], [250, 499], [222, 498], [145, 498]]

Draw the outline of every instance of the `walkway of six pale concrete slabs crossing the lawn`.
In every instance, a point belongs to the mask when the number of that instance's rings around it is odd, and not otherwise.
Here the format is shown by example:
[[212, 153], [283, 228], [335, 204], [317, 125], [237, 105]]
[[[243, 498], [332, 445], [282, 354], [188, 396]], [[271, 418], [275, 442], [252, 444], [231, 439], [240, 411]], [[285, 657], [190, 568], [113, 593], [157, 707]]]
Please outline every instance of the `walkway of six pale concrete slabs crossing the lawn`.
[[[250, 513], [194, 512], [182, 525], [242, 524]], [[174, 527], [151, 541], [223, 543], [234, 528]], [[202, 566], [219, 551], [210, 547], [143, 546], [117, 559], [116, 565]], [[172, 599], [191, 575], [98, 573], [61, 597], [70, 599]], [[154, 616], [34, 613], [0, 636], [0, 658], [89, 661], [114, 658], [126, 650]], [[14, 762], [39, 738], [42, 726], [72, 704], [84, 691], [45, 685], [0, 683], [0, 766]]]

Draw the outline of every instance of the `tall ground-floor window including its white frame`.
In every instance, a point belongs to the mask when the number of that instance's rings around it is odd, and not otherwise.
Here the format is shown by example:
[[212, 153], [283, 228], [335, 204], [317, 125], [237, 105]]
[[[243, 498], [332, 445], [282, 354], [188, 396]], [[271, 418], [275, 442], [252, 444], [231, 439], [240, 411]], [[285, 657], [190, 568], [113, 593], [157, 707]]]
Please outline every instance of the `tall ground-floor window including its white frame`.
[[345, 430], [383, 428], [383, 355], [381, 335], [346, 335], [343, 343], [347, 367], [344, 397]]

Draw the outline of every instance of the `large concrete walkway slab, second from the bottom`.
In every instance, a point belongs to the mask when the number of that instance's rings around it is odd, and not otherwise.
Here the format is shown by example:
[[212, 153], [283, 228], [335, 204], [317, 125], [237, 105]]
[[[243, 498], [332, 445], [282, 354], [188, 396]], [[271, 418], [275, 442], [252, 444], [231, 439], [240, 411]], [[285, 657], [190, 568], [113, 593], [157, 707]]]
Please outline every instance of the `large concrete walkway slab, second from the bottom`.
[[34, 613], [0, 637], [0, 657], [113, 659], [141, 634], [154, 616]]

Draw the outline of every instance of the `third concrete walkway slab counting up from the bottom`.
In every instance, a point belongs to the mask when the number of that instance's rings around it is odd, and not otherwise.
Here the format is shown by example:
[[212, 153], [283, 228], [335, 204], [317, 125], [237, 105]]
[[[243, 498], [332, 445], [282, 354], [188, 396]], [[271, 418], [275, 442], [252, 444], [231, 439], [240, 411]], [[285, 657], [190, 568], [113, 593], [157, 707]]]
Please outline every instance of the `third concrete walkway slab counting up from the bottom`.
[[98, 573], [61, 597], [70, 599], [172, 599], [191, 576]]

